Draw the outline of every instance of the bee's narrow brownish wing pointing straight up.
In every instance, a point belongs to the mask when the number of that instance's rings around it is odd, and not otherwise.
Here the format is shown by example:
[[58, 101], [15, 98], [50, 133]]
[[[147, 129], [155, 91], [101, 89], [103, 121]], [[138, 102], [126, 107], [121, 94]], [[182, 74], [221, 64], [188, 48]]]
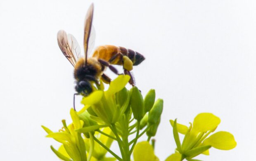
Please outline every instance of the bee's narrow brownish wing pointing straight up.
[[83, 44], [85, 49], [85, 64], [87, 64], [87, 52], [88, 52], [88, 44], [90, 39], [90, 33], [92, 28], [92, 18], [93, 18], [93, 3], [90, 5], [87, 14], [85, 16], [85, 28], [84, 28], [84, 37]]

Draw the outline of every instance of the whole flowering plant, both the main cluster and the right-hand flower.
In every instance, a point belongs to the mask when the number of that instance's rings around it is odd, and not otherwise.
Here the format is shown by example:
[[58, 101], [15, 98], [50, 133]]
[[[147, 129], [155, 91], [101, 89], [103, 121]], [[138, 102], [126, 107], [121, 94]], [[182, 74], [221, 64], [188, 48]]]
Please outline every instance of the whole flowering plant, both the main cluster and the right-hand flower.
[[[163, 111], [163, 100], [155, 101], [155, 90], [149, 90], [145, 98], [140, 90], [125, 88], [130, 80], [127, 75], [120, 75], [113, 80], [108, 90], [104, 85], [94, 87], [93, 92], [81, 101], [80, 111], [70, 110], [72, 123], [58, 132], [52, 132], [42, 126], [47, 137], [61, 143], [58, 150], [52, 151], [64, 161], [159, 161], [154, 154], [154, 140]], [[211, 113], [198, 114], [190, 126], [170, 120], [177, 148], [166, 161], [196, 161], [199, 154], [209, 155], [209, 149], [230, 150], [236, 146], [231, 133], [219, 131], [213, 133], [220, 124], [220, 118]], [[144, 134], [148, 139], [137, 143]], [[180, 142], [179, 133], [185, 135]], [[213, 133], [213, 134], [212, 134]], [[212, 134], [212, 135], [210, 135]], [[121, 156], [112, 151], [111, 144], [117, 142]], [[113, 157], [106, 157], [109, 152]]]

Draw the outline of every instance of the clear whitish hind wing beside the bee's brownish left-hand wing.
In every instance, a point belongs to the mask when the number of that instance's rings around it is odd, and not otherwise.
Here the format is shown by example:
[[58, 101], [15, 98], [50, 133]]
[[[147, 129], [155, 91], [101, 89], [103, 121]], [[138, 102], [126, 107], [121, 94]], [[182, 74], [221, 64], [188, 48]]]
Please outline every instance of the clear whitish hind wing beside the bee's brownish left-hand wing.
[[78, 42], [77, 42], [76, 38], [73, 35], [68, 34], [67, 37], [68, 37], [69, 47], [71, 48], [71, 52], [73, 53], [74, 58], [76, 59], [76, 62], [77, 62], [78, 59], [82, 56], [81, 48], [78, 45]]

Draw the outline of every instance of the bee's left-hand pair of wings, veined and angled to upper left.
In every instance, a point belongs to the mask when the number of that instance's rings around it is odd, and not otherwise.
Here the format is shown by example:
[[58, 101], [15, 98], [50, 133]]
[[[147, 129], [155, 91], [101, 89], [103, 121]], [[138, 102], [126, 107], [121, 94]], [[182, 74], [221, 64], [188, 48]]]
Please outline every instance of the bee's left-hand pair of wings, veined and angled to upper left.
[[[57, 34], [57, 40], [60, 50], [64, 56], [69, 60], [69, 62], [75, 66], [80, 57], [80, 47], [76, 39], [71, 35], [67, 35], [64, 30], [60, 30]], [[81, 53], [81, 52], [80, 52]]]

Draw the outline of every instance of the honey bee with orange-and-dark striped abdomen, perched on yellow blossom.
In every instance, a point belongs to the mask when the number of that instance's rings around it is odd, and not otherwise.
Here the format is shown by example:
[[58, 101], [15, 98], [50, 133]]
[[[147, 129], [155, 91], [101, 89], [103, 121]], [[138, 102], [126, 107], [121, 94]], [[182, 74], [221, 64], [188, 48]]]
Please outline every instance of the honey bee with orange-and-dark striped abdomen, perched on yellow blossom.
[[133, 66], [140, 64], [145, 59], [142, 54], [124, 47], [104, 45], [97, 47], [92, 57], [87, 57], [95, 40], [92, 18], [93, 4], [90, 5], [85, 16], [84, 57], [81, 55], [80, 47], [74, 36], [66, 34], [63, 30], [60, 30], [57, 34], [60, 50], [74, 66], [75, 89], [78, 92], [76, 94], [83, 96], [89, 95], [93, 90], [92, 83], [99, 85], [99, 79], [104, 83], [110, 83], [111, 79], [104, 74], [105, 69], [108, 67], [114, 73], [119, 74], [117, 69], [112, 65], [122, 65], [124, 74], [128, 74], [131, 77], [129, 83], [134, 86], [134, 78], [130, 71], [133, 69]]

